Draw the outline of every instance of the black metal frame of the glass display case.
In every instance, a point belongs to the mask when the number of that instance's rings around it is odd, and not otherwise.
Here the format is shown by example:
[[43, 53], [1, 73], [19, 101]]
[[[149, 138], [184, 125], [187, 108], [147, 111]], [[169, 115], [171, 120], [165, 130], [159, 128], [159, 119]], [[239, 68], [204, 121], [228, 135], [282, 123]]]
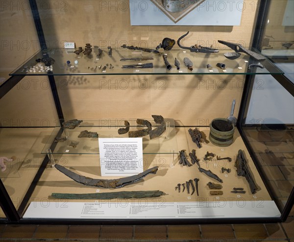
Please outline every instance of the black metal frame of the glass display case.
[[[267, 16], [270, 9], [270, 1], [271, 0], [262, 0], [260, 5], [260, 11], [257, 18], [257, 24], [255, 28], [254, 38], [253, 38], [253, 47], [261, 50], [261, 43], [262, 43], [262, 37], [264, 36], [265, 26], [267, 23]], [[36, 0], [29, 0], [36, 30], [38, 33], [40, 46], [42, 51], [47, 50], [46, 46], [46, 40], [37, 8]], [[293, 96], [294, 96], [294, 84], [289, 81], [286, 77], [283, 75], [272, 75], [273, 78], [275, 78], [286, 90], [288, 90]], [[6, 82], [4, 82], [0, 86], [0, 98], [2, 98], [6, 93], [8, 93], [19, 81], [21, 81], [24, 78], [24, 76], [13, 76], [10, 79], [8, 79]], [[53, 95], [53, 99], [55, 102], [55, 107], [58, 113], [58, 118], [60, 120], [60, 123], [64, 121], [64, 116], [60, 104], [60, 100], [58, 97], [58, 92], [56, 88], [56, 83], [54, 80], [54, 76], [48, 76], [49, 83]], [[248, 149], [248, 152], [250, 156], [253, 158], [253, 161], [257, 161], [257, 158], [246, 138], [246, 135], [243, 132], [242, 125], [245, 121], [245, 115], [248, 111], [248, 105], [252, 94], [252, 87], [254, 83], [255, 75], [247, 75], [245, 80], [245, 86], [242, 96], [242, 102], [240, 106], [240, 111], [238, 115], [238, 123], [237, 128], [244, 140], [244, 143], [246, 145], [246, 148]], [[62, 134], [63, 129], [61, 128], [59, 130], [58, 134]], [[51, 145], [51, 150], [53, 151], [56, 144]], [[37, 183], [39, 179], [41, 178], [47, 164], [49, 162], [49, 158], [46, 156], [43, 160], [37, 174], [35, 175], [33, 182], [31, 183], [30, 187], [28, 188], [28, 191], [26, 192], [25, 198], [23, 199], [20, 207], [18, 210], [15, 209], [13, 202], [11, 201], [2, 181], [0, 180], [0, 192], [2, 194], [2, 199], [0, 199], [0, 206], [5, 213], [8, 220], [1, 220], [0, 222], [4, 223], [20, 223], [20, 224], [195, 224], [195, 223], [201, 223], [201, 224], [218, 224], [218, 223], [273, 223], [273, 222], [280, 222], [284, 221], [287, 216], [289, 215], [293, 205], [294, 205], [294, 188], [291, 192], [291, 195], [287, 201], [287, 204], [285, 205], [282, 215], [280, 218], [240, 218], [240, 219], [219, 219], [219, 218], [212, 218], [212, 219], [176, 219], [176, 220], [166, 220], [166, 219], [148, 219], [148, 220], [141, 220], [141, 219], [127, 219], [127, 220], [112, 220], [112, 219], [106, 219], [106, 220], [97, 220], [97, 219], [24, 219], [21, 218], [21, 216], [25, 212], [25, 207], [35, 189], [37, 186]], [[263, 174], [262, 169], [260, 169], [257, 162], [255, 162], [255, 165], [264, 181], [264, 184], [267, 186], [267, 182], [265, 182], [265, 175]], [[267, 187], [268, 188], [268, 187]], [[268, 191], [271, 193], [271, 190], [268, 188]], [[270, 194], [273, 197], [273, 194]], [[3, 199], [4, 198], [4, 199]], [[20, 216], [21, 215], [21, 216]], [[253, 219], [253, 220], [252, 220]]]

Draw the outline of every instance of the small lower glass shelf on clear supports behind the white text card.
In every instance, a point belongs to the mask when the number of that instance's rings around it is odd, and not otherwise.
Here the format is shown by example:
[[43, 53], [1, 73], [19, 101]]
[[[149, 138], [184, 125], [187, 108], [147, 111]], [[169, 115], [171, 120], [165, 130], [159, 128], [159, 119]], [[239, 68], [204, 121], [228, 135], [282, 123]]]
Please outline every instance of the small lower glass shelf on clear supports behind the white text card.
[[[152, 124], [152, 130], [158, 126], [153, 120], [148, 121]], [[165, 118], [166, 122], [170, 122], [169, 138], [167, 138], [167, 130], [157, 138], [150, 139], [149, 135], [143, 137], [143, 154], [177, 154], [178, 147], [176, 141], [176, 133], [174, 120]], [[146, 129], [145, 126], [137, 125], [136, 119], [128, 120], [130, 123], [130, 131]], [[118, 134], [119, 128], [124, 128], [124, 120], [84, 120], [79, 127], [73, 130], [65, 129], [62, 136], [69, 136], [64, 142], [58, 142], [53, 154], [99, 154], [98, 138], [78, 138], [77, 136], [84, 130], [89, 132], [97, 132], [99, 138], [125, 138], [128, 134]], [[55, 129], [51, 137], [56, 137], [59, 129]], [[47, 149], [51, 145], [52, 138], [49, 138], [47, 144], [42, 150], [42, 154], [47, 154]], [[78, 142], [76, 148], [70, 146], [71, 142]]]

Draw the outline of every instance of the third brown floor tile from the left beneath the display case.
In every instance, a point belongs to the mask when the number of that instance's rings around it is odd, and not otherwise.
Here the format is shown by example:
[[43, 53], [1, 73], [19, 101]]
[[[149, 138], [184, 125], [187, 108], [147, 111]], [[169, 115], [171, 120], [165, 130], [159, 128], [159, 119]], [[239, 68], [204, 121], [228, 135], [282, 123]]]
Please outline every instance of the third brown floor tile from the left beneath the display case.
[[69, 239], [98, 239], [101, 226], [99, 225], [71, 225], [66, 238]]

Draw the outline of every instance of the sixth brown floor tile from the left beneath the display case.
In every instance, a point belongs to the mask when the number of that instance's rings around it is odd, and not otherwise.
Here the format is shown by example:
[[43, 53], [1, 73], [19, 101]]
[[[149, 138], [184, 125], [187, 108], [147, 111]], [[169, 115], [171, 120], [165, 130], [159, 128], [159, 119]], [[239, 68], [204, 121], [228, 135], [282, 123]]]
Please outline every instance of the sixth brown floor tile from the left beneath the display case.
[[200, 239], [198, 225], [169, 225], [169, 240], [197, 240]]

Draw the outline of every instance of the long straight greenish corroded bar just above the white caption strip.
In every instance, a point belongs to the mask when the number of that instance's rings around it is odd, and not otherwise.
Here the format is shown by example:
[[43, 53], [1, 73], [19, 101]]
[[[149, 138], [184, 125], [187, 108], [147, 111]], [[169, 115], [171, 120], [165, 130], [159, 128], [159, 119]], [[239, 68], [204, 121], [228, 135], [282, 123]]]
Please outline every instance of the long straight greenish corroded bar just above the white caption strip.
[[100, 193], [85, 193], [85, 194], [75, 194], [75, 193], [52, 193], [52, 198], [60, 199], [128, 199], [128, 198], [144, 198], [144, 197], [159, 197], [165, 193], [160, 190], [150, 190], [150, 191], [114, 191], [114, 192], [100, 192]]

